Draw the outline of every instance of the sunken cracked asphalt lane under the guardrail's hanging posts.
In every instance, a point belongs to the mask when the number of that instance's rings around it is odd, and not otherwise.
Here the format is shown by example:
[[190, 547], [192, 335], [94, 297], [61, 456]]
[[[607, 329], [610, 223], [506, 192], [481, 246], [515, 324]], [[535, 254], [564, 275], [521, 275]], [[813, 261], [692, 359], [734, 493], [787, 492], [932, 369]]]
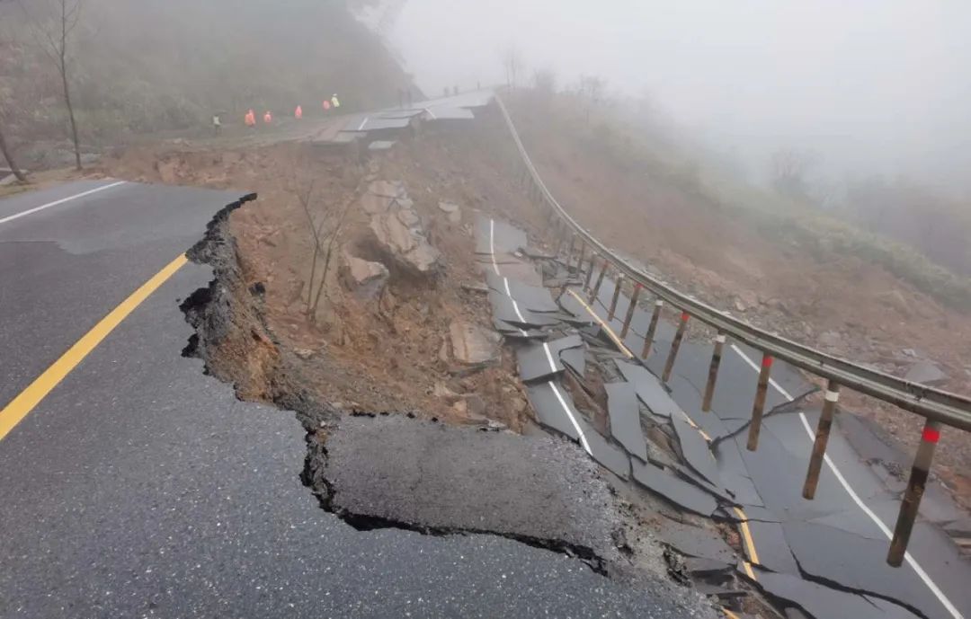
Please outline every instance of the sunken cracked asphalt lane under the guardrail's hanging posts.
[[[614, 294], [614, 283], [604, 280], [592, 309], [604, 320]], [[628, 308], [620, 296], [616, 317], [619, 332]], [[625, 345], [636, 354], [644, 347], [651, 314], [635, 311]], [[647, 365], [661, 375], [674, 336], [674, 325], [659, 325]], [[711, 342], [686, 341], [669, 382], [672, 396], [699, 426], [713, 436], [740, 427], [752, 414], [760, 354], [742, 345], [726, 345], [713, 401], [713, 412], [701, 411], [701, 398], [712, 355]], [[772, 368], [766, 410], [784, 405], [811, 388], [784, 363]], [[771, 570], [816, 576], [853, 591], [876, 594], [906, 605], [931, 618], [971, 617], [971, 563], [959, 556], [954, 542], [937, 524], [961, 517], [938, 491], [928, 490], [921, 518], [909, 547], [910, 559], [900, 569], [886, 564], [889, 534], [899, 509], [904, 481], [887, 483], [858, 453], [848, 436], [836, 430], [826, 450], [815, 500], [801, 496], [802, 483], [819, 420], [818, 408], [792, 407], [768, 415], [762, 425], [758, 449], [746, 448], [747, 430], [721, 440], [715, 455], [720, 474], [748, 478], [750, 498], [742, 500], [751, 511], [753, 544], [759, 561]], [[871, 442], [878, 442], [870, 437]], [[749, 553], [753, 560], [752, 553]], [[793, 558], [795, 561], [793, 561]], [[820, 597], [814, 592], [810, 597]]]

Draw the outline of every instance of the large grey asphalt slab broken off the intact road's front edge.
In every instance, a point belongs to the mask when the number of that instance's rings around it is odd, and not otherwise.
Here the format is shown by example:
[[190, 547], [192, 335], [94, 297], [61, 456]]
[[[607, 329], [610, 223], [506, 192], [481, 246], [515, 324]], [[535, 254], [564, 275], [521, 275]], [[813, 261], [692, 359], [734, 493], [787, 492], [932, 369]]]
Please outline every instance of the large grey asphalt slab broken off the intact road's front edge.
[[343, 419], [326, 441], [327, 508], [359, 529], [488, 533], [617, 558], [616, 508], [575, 445], [399, 415]]

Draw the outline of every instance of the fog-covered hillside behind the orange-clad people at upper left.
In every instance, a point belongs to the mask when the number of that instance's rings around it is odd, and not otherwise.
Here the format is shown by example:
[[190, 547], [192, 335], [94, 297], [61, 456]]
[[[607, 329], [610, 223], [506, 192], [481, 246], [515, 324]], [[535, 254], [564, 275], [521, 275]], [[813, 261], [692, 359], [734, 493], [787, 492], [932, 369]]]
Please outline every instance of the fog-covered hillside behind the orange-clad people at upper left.
[[[40, 46], [46, 0], [0, 2], [0, 114], [21, 165], [67, 139], [59, 77]], [[292, 114], [340, 93], [345, 110], [372, 109], [411, 79], [342, 0], [84, 0], [72, 37], [71, 85], [85, 150], [155, 133], [210, 130], [246, 110]], [[322, 114], [322, 111], [319, 113]], [[63, 147], [63, 144], [59, 146]]]

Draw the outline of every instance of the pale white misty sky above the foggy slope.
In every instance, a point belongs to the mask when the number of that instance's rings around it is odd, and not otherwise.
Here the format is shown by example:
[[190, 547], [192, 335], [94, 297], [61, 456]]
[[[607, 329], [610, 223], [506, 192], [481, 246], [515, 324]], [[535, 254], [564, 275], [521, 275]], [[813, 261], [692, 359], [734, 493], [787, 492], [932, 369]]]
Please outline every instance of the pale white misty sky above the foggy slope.
[[502, 81], [512, 44], [561, 82], [648, 93], [755, 179], [799, 147], [831, 178], [971, 187], [968, 0], [407, 0], [388, 37], [432, 94]]

